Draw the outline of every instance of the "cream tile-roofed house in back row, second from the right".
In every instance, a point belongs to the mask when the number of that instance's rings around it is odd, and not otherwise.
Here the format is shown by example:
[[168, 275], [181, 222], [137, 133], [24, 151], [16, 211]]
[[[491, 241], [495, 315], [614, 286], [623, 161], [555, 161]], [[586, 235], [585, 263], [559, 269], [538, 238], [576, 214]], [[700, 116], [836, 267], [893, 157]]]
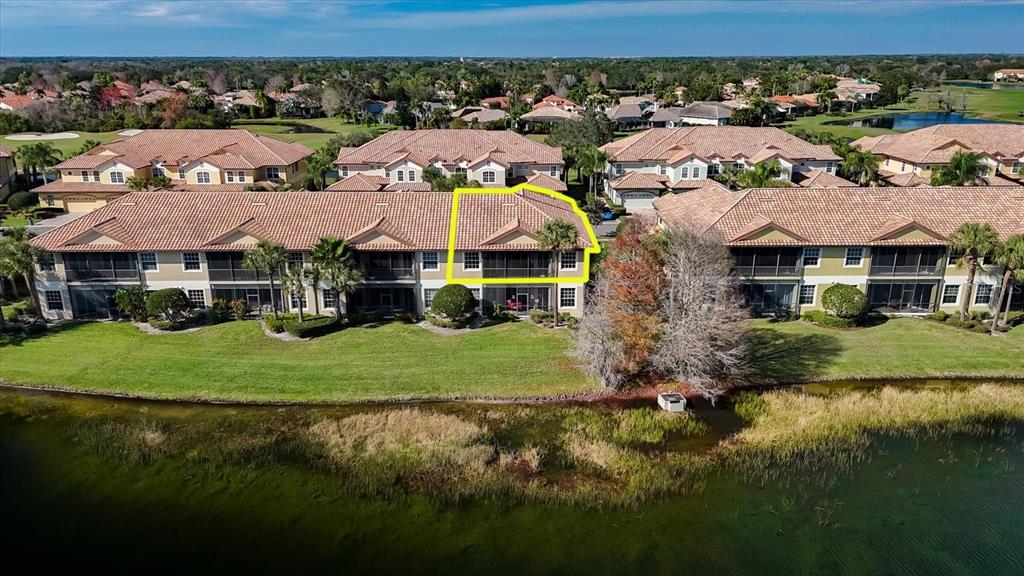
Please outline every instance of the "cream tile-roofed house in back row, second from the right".
[[[668, 191], [699, 188], [728, 166], [777, 161], [786, 180], [819, 170], [835, 175], [840, 157], [827, 146], [778, 128], [692, 126], [652, 128], [601, 147], [609, 157], [605, 193], [628, 210], [650, 208]], [[639, 172], [640, 176], [633, 176]], [[657, 181], [659, 186], [651, 182]]]

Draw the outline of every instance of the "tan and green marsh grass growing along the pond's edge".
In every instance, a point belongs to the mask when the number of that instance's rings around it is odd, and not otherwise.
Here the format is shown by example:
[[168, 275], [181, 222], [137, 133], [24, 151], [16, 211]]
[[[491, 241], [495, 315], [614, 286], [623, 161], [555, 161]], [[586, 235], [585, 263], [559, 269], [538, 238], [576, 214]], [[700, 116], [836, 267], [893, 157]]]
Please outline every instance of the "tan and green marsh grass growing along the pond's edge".
[[[746, 424], [734, 434], [713, 430], [699, 414], [605, 406], [218, 409], [199, 416], [137, 408], [61, 414], [58, 406], [0, 393], [0, 416], [66, 417], [77, 422], [69, 429], [81, 449], [133, 465], [181, 458], [211, 474], [298, 465], [358, 495], [419, 493], [438, 503], [636, 507], [698, 493], [726, 477], [828, 486], [884, 453], [890, 439], [1010, 439], [1009, 449], [950, 456], [987, 462], [996, 472], [1013, 470], [1024, 451], [1016, 436], [1024, 386], [992, 383], [745, 394], [733, 409]], [[688, 437], [707, 438], [713, 448], [679, 448], [676, 440]]]

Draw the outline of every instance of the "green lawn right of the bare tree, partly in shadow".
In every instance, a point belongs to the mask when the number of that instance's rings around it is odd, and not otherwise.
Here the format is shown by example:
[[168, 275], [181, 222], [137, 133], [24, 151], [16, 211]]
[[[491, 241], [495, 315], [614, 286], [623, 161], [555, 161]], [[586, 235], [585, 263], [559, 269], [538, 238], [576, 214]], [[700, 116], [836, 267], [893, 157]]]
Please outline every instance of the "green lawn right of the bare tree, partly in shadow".
[[754, 326], [756, 370], [770, 379], [1024, 377], [1024, 328], [990, 336], [911, 318], [855, 330], [765, 320]]

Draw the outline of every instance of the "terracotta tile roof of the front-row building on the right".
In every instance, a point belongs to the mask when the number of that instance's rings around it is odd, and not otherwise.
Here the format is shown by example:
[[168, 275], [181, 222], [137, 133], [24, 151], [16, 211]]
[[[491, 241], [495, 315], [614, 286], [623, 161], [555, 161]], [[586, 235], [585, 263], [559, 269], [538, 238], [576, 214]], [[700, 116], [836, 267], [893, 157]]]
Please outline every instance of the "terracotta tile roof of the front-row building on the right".
[[[966, 221], [999, 237], [1024, 231], [1024, 188], [786, 188], [728, 192], [711, 188], [654, 200], [670, 228], [709, 234], [730, 246], [943, 245]], [[930, 238], [894, 238], [913, 227]], [[774, 228], [792, 240], [752, 240]], [[783, 232], [784, 231], [784, 232]]]

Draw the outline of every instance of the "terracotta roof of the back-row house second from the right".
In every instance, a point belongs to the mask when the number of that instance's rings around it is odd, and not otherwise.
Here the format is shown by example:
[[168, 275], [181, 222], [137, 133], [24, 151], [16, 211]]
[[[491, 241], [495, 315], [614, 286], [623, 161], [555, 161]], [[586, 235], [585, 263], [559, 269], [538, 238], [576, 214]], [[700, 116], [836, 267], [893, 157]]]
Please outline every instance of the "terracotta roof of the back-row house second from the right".
[[794, 160], [840, 160], [830, 150], [778, 128], [746, 126], [651, 128], [601, 147], [602, 152], [621, 162], [667, 160], [684, 150], [701, 158], [752, 158], [766, 149]]

